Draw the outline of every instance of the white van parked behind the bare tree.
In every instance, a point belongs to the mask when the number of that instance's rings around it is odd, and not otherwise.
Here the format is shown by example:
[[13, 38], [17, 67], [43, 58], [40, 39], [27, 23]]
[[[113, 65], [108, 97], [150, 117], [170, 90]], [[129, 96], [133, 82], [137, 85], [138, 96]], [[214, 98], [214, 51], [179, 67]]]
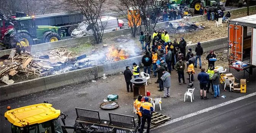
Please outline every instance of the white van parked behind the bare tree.
[[[124, 22], [121, 19], [118, 19], [118, 23], [117, 23], [116, 17], [102, 16], [100, 19], [101, 19], [102, 25], [105, 26], [104, 32], [115, 31], [124, 26]], [[81, 22], [78, 25], [78, 27], [76, 27], [73, 30], [71, 37], [75, 38], [75, 37], [91, 35], [92, 34], [91, 25], [87, 24], [87, 22], [85, 21]]]

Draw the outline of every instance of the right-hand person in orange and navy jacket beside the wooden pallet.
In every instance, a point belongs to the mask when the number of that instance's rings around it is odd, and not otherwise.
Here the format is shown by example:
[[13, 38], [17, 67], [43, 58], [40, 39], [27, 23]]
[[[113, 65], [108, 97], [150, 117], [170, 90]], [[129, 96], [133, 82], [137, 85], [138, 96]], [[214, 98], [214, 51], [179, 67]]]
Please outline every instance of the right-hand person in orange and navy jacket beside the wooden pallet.
[[149, 103], [149, 98], [145, 97], [145, 102], [141, 103], [141, 108], [139, 111], [142, 113], [142, 120], [141, 120], [141, 129], [139, 133], [143, 133], [143, 129], [147, 120], [147, 133], [149, 133], [150, 123], [151, 123], [151, 116], [154, 108], [151, 103]]

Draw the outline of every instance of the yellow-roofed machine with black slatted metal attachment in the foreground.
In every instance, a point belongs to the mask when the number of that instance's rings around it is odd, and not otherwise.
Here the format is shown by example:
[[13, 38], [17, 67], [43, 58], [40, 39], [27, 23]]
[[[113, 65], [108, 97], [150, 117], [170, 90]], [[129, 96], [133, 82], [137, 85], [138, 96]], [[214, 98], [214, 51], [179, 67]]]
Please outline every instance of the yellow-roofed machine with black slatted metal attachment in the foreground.
[[[109, 113], [110, 120], [100, 119], [99, 111], [75, 108], [75, 124], [68, 126], [68, 115], [52, 107], [47, 101], [11, 109], [7, 107], [5, 119], [11, 123], [12, 133], [136, 133], [134, 116]], [[61, 124], [62, 121], [62, 124]], [[71, 132], [70, 132], [71, 133]]]

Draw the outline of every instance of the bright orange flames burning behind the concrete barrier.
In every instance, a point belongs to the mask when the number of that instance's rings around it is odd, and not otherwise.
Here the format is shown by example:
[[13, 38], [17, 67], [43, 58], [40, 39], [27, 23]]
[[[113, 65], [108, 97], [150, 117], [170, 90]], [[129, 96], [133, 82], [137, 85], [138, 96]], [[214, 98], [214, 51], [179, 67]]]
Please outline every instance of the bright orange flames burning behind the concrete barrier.
[[126, 53], [126, 51], [122, 48], [110, 47], [106, 57], [107, 60], [118, 61], [127, 59], [129, 57], [129, 54]]

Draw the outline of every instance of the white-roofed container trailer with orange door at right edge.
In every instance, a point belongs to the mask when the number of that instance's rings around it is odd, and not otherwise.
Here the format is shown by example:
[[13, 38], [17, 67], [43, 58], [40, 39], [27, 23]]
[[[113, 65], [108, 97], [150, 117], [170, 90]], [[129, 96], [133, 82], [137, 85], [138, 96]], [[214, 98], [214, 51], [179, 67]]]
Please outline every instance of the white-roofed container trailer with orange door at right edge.
[[[228, 23], [229, 68], [253, 74], [256, 67], [256, 14]], [[230, 71], [230, 69], [229, 69]]]

